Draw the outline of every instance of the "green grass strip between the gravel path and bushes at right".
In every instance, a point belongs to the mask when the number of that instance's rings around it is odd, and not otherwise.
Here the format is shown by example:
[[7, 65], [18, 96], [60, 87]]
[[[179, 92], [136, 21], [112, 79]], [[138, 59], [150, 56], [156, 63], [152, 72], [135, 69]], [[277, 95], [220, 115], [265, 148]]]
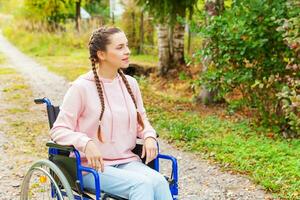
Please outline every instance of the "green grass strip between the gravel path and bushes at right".
[[200, 114], [195, 105], [156, 92], [147, 79], [139, 83], [148, 115], [162, 138], [218, 162], [225, 170], [248, 175], [275, 198], [300, 197], [299, 140], [269, 138], [269, 130], [246, 119]]

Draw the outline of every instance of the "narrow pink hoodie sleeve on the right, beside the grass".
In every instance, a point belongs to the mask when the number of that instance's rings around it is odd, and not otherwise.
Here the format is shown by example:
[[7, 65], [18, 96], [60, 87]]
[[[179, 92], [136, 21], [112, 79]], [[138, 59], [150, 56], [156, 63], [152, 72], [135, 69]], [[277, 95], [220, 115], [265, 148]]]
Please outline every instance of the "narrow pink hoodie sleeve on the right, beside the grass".
[[136, 103], [137, 103], [137, 110], [141, 114], [141, 117], [143, 119], [145, 128], [144, 130], [139, 130], [138, 129], [138, 137], [146, 139], [147, 137], [153, 137], [156, 138], [156, 131], [154, 128], [151, 126], [147, 114], [146, 114], [146, 109], [144, 108], [144, 103], [142, 99], [142, 94], [140, 91], [140, 87], [136, 79], [134, 80], [134, 88], [135, 88], [135, 98], [136, 98]]

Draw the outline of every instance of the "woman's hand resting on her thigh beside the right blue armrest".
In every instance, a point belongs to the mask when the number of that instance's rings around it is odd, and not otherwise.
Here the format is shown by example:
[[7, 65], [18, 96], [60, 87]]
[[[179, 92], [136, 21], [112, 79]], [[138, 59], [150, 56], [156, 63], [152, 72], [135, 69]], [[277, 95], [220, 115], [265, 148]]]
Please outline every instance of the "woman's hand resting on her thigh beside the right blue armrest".
[[142, 158], [146, 156], [145, 164], [147, 165], [149, 162], [154, 160], [157, 154], [158, 154], [158, 150], [157, 150], [156, 139], [154, 139], [153, 137], [147, 137], [144, 141], [143, 151], [142, 151]]

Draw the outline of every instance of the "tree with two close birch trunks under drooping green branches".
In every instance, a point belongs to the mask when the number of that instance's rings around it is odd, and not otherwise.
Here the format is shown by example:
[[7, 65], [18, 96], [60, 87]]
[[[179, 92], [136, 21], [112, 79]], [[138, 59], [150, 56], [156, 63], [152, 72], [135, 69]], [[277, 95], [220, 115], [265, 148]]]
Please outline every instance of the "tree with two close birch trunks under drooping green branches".
[[165, 76], [184, 62], [184, 28], [187, 9], [197, 0], [136, 0], [157, 20], [159, 73]]

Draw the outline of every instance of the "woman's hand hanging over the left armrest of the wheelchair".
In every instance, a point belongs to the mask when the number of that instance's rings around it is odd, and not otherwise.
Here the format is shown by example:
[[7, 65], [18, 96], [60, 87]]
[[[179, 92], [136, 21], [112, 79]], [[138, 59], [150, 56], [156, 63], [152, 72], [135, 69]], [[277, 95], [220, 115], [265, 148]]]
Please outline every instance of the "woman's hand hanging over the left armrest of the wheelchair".
[[99, 152], [99, 149], [93, 140], [88, 141], [84, 153], [88, 160], [89, 166], [101, 172], [104, 171], [104, 162], [101, 153]]

